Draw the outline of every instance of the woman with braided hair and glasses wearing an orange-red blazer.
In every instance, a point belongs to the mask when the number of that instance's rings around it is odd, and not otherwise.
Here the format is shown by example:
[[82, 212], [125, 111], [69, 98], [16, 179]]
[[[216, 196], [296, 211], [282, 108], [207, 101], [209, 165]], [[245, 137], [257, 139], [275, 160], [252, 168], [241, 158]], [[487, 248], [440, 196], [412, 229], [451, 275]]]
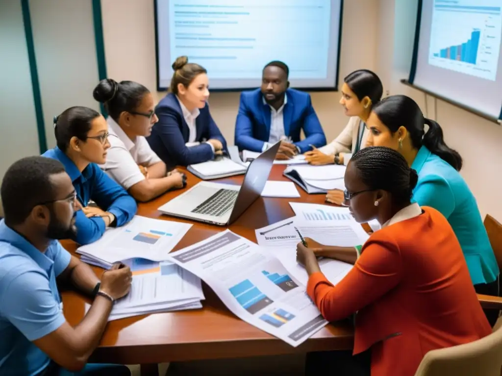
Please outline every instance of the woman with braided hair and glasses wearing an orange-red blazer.
[[[335, 286], [317, 263], [316, 253], [326, 247], [307, 239], [308, 248], [297, 248], [309, 274], [307, 292], [323, 316], [336, 321], [357, 312], [353, 354], [369, 349], [373, 376], [413, 376], [429, 350], [491, 333], [448, 221], [435, 209], [411, 203], [417, 179], [399, 152], [359, 150], [345, 172], [345, 203], [356, 221], [377, 219], [382, 229]], [[342, 374], [340, 361], [327, 359], [333, 374]], [[364, 364], [357, 366], [354, 372], [345, 364], [347, 374], [360, 374]]]

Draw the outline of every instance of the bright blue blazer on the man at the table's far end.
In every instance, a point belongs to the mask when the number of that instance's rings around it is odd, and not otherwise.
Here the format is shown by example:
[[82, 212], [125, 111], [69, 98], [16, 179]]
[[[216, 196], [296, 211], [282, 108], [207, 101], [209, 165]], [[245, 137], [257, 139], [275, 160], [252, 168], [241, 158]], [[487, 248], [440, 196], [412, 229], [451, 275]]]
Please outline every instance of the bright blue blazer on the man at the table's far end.
[[[286, 90], [284, 105], [284, 134], [290, 136], [302, 153], [312, 150], [310, 145], [326, 145], [326, 136], [312, 107], [310, 95], [295, 89]], [[260, 89], [240, 94], [239, 113], [235, 122], [235, 145], [240, 150], [262, 151], [270, 137], [270, 106], [263, 102]], [[303, 128], [305, 139], [300, 141]]]

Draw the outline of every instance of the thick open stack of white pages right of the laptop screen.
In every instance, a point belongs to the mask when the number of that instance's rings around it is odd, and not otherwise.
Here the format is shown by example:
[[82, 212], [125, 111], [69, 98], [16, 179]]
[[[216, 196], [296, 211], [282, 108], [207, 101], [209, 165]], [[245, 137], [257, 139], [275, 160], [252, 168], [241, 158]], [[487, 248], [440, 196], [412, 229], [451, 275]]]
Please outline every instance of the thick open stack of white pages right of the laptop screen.
[[284, 176], [290, 178], [309, 193], [326, 193], [330, 190], [344, 190], [345, 166], [328, 164], [325, 166], [289, 166]]

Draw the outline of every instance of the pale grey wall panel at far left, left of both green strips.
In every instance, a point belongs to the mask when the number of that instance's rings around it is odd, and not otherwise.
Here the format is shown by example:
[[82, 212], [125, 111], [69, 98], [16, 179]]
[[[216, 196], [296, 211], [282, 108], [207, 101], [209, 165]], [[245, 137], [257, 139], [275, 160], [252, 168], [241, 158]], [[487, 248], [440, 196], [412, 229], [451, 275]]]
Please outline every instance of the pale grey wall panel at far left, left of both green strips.
[[16, 160], [40, 153], [20, 1], [0, 2], [0, 56], [1, 177]]

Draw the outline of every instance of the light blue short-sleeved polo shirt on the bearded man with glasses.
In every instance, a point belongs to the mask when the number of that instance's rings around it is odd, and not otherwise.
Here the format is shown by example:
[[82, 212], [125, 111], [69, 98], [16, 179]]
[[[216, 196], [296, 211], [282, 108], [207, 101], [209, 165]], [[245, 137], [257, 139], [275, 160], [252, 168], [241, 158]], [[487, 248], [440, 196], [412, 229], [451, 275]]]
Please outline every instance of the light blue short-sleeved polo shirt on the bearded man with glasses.
[[65, 322], [56, 277], [70, 259], [59, 242], [42, 253], [0, 221], [1, 375], [35, 375], [49, 364], [32, 341]]

